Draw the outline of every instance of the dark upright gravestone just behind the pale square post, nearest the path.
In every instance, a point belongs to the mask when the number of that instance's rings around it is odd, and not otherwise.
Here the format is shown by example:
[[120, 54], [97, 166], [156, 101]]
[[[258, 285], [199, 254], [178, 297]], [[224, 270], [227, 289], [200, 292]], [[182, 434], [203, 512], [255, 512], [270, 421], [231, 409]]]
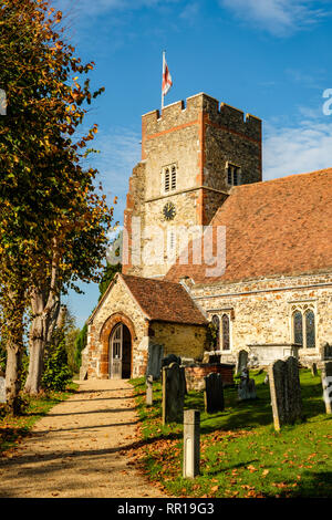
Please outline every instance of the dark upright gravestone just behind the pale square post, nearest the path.
[[185, 368], [177, 363], [163, 368], [163, 425], [183, 423], [185, 382]]

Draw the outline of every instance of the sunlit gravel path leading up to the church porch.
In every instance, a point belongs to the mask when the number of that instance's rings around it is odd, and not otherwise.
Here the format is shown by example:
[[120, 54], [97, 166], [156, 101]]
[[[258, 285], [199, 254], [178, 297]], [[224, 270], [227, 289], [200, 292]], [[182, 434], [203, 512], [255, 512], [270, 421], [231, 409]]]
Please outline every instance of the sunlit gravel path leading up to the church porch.
[[76, 383], [80, 391], [40, 419], [10, 458], [0, 459], [0, 497], [165, 497], [126, 454], [138, 440], [128, 382]]

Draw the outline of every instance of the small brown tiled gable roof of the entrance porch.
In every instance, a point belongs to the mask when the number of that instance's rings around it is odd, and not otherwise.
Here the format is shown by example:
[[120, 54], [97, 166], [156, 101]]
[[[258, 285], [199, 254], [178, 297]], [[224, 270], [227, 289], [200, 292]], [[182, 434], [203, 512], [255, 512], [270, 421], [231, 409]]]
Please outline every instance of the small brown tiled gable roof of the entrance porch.
[[148, 320], [191, 325], [207, 323], [203, 312], [180, 283], [123, 273], [120, 277]]

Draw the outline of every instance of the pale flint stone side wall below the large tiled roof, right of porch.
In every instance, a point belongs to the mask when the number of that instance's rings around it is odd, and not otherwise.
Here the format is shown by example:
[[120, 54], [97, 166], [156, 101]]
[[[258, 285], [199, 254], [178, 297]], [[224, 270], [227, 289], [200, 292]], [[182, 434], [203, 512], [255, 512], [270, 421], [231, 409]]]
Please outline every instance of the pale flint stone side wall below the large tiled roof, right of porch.
[[[315, 349], [300, 349], [301, 363], [321, 360], [321, 349], [332, 344], [332, 273], [266, 278], [238, 283], [193, 285], [191, 297], [209, 314], [230, 312], [230, 356], [248, 345], [294, 343], [291, 316], [295, 309], [315, 313]], [[225, 311], [226, 310], [226, 311]], [[264, 349], [261, 346], [260, 349]], [[269, 347], [267, 347], [269, 349]], [[236, 357], [235, 357], [236, 358]]]

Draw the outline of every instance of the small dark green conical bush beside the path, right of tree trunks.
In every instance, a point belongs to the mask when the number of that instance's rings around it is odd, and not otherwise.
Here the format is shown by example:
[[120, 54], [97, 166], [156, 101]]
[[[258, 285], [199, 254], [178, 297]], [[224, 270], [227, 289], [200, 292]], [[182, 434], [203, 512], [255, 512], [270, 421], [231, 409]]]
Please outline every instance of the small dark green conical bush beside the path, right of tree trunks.
[[55, 392], [65, 389], [72, 379], [72, 373], [68, 366], [68, 354], [65, 351], [65, 340], [61, 340], [51, 346], [45, 356], [42, 387]]

